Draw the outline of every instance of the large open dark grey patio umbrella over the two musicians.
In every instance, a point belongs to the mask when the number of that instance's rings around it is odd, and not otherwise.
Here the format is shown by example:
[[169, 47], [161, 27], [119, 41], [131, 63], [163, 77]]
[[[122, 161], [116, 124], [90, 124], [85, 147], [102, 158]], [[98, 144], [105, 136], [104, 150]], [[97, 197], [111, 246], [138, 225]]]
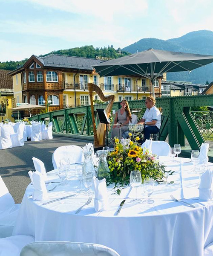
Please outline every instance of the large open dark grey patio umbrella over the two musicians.
[[164, 72], [191, 71], [213, 62], [213, 56], [148, 49], [93, 66], [100, 76], [144, 76], [152, 81]]

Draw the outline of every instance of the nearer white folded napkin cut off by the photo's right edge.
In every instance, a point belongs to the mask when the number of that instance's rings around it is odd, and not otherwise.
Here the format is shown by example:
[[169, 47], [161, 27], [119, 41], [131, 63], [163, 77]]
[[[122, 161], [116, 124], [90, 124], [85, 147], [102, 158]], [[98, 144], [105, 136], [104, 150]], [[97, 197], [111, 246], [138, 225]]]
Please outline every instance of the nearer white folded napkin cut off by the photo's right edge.
[[199, 198], [201, 200], [211, 200], [213, 198], [212, 186], [212, 171], [209, 169], [201, 176], [199, 187]]

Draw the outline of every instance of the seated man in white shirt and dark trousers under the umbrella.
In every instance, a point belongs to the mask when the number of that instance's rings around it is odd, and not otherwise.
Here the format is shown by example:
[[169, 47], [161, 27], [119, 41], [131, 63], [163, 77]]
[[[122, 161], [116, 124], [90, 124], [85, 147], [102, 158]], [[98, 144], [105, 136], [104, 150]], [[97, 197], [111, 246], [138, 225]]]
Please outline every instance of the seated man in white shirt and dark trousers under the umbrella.
[[146, 111], [142, 119], [138, 122], [139, 125], [145, 125], [144, 127], [144, 141], [150, 139], [150, 134], [156, 134], [161, 128], [161, 113], [158, 108], [155, 107], [155, 98], [148, 96], [145, 105]]

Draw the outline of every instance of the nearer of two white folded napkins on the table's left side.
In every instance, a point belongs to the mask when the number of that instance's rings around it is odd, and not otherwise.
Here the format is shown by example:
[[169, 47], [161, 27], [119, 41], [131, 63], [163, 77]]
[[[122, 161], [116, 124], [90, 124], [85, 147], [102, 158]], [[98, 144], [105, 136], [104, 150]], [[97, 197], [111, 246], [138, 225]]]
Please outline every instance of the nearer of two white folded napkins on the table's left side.
[[47, 193], [47, 189], [46, 189], [46, 185], [44, 182], [44, 178], [43, 175], [38, 172], [32, 172], [29, 171], [28, 172], [29, 177], [32, 181], [32, 184], [34, 186], [34, 191], [32, 194], [32, 199], [33, 200], [44, 200], [48, 198], [48, 193]]

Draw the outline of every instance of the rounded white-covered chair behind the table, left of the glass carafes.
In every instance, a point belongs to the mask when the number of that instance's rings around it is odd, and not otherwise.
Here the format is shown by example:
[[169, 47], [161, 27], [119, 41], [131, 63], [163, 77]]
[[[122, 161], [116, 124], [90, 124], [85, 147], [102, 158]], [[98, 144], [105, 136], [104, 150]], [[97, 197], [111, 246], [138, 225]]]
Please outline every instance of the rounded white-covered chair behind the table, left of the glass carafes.
[[54, 169], [60, 166], [62, 158], [69, 158], [69, 163], [78, 163], [84, 160], [83, 149], [76, 145], [61, 146], [56, 148], [52, 154], [52, 165]]

